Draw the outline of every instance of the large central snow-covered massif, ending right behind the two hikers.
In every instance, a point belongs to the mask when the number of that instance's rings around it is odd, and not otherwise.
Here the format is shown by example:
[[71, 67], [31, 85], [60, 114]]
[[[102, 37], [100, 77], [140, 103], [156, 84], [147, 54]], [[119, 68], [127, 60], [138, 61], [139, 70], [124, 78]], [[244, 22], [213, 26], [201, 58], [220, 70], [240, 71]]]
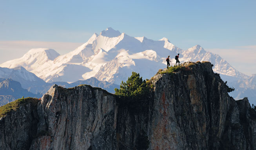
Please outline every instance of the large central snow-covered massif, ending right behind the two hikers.
[[52, 49], [32, 49], [22, 58], [0, 66], [22, 66], [46, 82], [74, 82], [95, 77], [119, 84], [127, 79], [131, 70], [150, 78], [155, 74], [155, 68], [165, 67], [166, 56], [178, 52], [183, 50], [166, 38], [159, 41], [134, 38], [107, 28], [99, 35], [93, 34], [86, 43], [67, 54], [58, 55]]

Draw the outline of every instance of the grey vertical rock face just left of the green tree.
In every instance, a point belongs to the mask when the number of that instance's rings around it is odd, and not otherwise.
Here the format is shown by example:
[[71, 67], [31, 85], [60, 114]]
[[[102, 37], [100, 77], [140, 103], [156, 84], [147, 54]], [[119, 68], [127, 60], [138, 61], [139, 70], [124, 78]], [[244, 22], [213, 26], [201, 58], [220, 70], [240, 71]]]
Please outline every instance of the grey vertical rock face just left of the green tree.
[[115, 100], [91, 86], [54, 85], [38, 105], [38, 133], [31, 150], [115, 149]]

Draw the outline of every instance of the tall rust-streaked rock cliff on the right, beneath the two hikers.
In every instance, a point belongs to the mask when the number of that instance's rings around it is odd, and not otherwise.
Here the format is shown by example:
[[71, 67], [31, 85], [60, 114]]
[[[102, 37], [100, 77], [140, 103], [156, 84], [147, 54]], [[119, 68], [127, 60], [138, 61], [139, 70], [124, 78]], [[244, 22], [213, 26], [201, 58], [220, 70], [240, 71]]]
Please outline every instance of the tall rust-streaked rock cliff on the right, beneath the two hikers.
[[147, 108], [119, 110], [118, 148], [133, 149], [144, 130], [152, 150], [253, 150], [256, 121], [248, 100], [231, 98], [211, 63], [184, 67], [153, 77], [154, 97], [147, 99]]

